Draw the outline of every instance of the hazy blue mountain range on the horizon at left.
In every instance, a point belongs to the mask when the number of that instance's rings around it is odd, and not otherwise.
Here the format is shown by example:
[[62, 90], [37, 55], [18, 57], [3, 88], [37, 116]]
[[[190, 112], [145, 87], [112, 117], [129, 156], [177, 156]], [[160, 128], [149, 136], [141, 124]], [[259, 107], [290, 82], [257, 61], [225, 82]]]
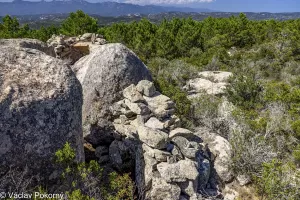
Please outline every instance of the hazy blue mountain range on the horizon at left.
[[88, 14], [101, 16], [122, 16], [128, 14], [158, 14], [162, 12], [213, 12], [209, 9], [187, 7], [164, 7], [155, 5], [134, 5], [117, 2], [89, 3], [84, 0], [67, 1], [40, 1], [30, 2], [15, 0], [13, 2], [0, 2], [0, 16], [4, 15], [40, 15], [63, 14], [82, 10]]

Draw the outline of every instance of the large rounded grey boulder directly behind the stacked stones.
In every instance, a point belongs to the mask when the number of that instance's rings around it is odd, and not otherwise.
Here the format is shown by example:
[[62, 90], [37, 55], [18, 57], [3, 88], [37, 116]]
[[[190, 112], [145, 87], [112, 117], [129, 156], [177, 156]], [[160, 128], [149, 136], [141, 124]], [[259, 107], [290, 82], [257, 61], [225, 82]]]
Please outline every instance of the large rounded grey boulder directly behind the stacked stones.
[[122, 90], [140, 80], [152, 80], [144, 63], [122, 44], [105, 44], [72, 67], [83, 89], [83, 128], [93, 145], [109, 144], [112, 114], [109, 107], [122, 97]]

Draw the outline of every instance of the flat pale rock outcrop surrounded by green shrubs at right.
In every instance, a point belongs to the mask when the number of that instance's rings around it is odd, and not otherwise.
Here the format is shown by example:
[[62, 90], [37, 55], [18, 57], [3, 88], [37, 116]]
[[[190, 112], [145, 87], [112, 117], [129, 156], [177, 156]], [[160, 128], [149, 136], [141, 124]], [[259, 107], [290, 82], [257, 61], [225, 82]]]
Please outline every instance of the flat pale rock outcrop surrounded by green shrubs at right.
[[191, 79], [184, 89], [189, 98], [201, 97], [202, 94], [222, 95], [228, 85], [231, 72], [203, 71], [198, 73], [199, 78]]

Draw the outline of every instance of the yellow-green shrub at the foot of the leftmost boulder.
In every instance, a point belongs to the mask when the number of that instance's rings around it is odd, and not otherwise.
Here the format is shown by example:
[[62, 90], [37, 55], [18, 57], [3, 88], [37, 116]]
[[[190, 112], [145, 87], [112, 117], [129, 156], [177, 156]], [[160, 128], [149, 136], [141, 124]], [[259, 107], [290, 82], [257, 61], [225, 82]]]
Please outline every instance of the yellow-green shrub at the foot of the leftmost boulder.
[[[61, 185], [68, 188], [68, 191], [64, 192], [69, 199], [133, 199], [135, 187], [129, 174], [112, 172], [106, 177], [103, 175], [103, 168], [94, 160], [89, 163], [76, 163], [75, 151], [69, 143], [66, 143], [55, 155], [62, 168]], [[89, 196], [91, 194], [92, 196]]]

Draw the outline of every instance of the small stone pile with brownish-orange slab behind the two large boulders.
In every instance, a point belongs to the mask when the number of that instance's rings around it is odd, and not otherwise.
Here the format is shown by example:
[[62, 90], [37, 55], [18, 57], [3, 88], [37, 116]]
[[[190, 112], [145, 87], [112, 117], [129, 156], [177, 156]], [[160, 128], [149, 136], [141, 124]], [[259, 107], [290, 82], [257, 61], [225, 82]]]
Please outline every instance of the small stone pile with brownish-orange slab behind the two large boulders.
[[85, 33], [78, 37], [52, 35], [47, 44], [54, 48], [57, 58], [70, 59], [72, 64], [89, 54], [91, 49], [106, 44], [106, 40], [102, 35], [95, 33]]

